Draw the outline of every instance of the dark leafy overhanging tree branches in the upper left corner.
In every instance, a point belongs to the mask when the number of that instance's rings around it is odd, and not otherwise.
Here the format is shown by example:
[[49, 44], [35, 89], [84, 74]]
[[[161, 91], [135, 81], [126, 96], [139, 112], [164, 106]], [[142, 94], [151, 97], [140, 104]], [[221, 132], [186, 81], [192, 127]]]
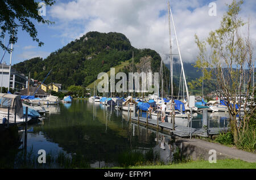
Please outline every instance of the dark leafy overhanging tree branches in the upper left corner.
[[[42, 2], [46, 6], [52, 6], [55, 3], [54, 0], [42, 0]], [[15, 44], [18, 41], [18, 27], [22, 27], [22, 30], [26, 31], [32, 37], [33, 41], [38, 42], [39, 46], [43, 45], [43, 42], [37, 38], [38, 31], [36, 31], [31, 19], [43, 24], [52, 24], [53, 22], [43, 19], [43, 16], [38, 14], [38, 10], [38, 2], [35, 0], [0, 1], [0, 46], [2, 49], [10, 52], [11, 49], [3, 44], [2, 39], [7, 32], [11, 35], [9, 44]]]

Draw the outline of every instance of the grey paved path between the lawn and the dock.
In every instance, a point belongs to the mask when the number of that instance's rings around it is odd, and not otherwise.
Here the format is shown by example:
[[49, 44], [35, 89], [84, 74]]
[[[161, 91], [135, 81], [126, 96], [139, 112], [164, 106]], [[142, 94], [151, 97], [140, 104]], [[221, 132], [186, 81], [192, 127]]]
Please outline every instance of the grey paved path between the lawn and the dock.
[[246, 162], [256, 162], [256, 154], [250, 153], [246, 151], [242, 151], [240, 149], [234, 149], [232, 147], [226, 147], [225, 145], [220, 145], [216, 143], [210, 143], [205, 140], [200, 139], [181, 139], [183, 143], [189, 143], [191, 145], [196, 145], [197, 147], [201, 147], [204, 149], [214, 149], [218, 153], [222, 153], [225, 156], [229, 156], [230, 158], [240, 159]]

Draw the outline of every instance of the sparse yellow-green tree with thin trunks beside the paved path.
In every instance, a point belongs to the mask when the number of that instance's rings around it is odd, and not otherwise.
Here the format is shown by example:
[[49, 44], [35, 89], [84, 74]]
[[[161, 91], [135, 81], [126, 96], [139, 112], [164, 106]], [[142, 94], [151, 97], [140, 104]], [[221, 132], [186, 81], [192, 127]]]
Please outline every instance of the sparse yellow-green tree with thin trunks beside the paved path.
[[[199, 37], [195, 35], [199, 48], [196, 66], [204, 68], [204, 80], [210, 77], [217, 80], [220, 89], [217, 91], [218, 95], [228, 106], [234, 144], [237, 144], [240, 133], [247, 130], [247, 125], [256, 108], [255, 104], [250, 105], [250, 110], [245, 109], [245, 115], [241, 117], [241, 105], [246, 107], [251, 97], [249, 89], [254, 68], [249, 32], [247, 37], [240, 33], [241, 28], [246, 24], [241, 18], [238, 18], [242, 3], [242, 1], [233, 1], [228, 6], [220, 28], [210, 32], [206, 41], [200, 41]], [[247, 68], [246, 73], [244, 72], [245, 68]], [[243, 92], [242, 83], [245, 79], [247, 91]], [[254, 87], [252, 92], [254, 92]], [[245, 97], [244, 102], [242, 102], [242, 96]], [[237, 116], [241, 123], [237, 122]]]

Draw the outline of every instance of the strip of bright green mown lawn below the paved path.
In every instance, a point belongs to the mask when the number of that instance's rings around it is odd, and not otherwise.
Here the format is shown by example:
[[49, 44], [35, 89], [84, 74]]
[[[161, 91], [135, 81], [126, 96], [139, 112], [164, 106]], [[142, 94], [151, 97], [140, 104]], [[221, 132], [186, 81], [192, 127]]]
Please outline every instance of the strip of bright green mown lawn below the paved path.
[[226, 159], [212, 164], [208, 161], [191, 161], [172, 165], [130, 166], [129, 169], [256, 169], [256, 162]]

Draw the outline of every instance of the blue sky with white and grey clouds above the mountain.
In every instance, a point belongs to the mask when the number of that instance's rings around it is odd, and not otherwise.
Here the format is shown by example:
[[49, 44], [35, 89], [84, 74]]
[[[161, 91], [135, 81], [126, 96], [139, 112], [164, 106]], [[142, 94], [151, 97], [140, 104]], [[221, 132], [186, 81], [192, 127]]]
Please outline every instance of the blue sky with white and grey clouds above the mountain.
[[[209, 15], [211, 2], [216, 4], [216, 16]], [[170, 1], [184, 62], [195, 62], [198, 52], [195, 34], [203, 40], [210, 31], [217, 29], [222, 15], [228, 9], [226, 4], [231, 2], [232, 0]], [[256, 47], [256, 1], [245, 0], [241, 8], [241, 18], [244, 21], [250, 18], [250, 37]], [[123, 33], [135, 48], [154, 49], [164, 59], [164, 54], [170, 53], [167, 0], [56, 0], [55, 5], [46, 8], [44, 18], [55, 22], [53, 25], [35, 23], [38, 37], [44, 45], [39, 47], [20, 29], [18, 42], [14, 45], [12, 64], [33, 57], [46, 58], [51, 52], [89, 31]], [[173, 53], [177, 54], [173, 27], [171, 31]], [[9, 63], [9, 54], [5, 61]]]

